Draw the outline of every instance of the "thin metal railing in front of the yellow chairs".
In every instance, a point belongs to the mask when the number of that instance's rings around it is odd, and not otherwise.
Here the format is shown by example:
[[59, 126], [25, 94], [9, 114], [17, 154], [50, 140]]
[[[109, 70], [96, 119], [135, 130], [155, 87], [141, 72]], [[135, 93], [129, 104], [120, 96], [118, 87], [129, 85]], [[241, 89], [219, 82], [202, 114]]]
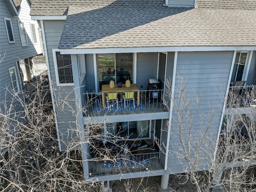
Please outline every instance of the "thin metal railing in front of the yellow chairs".
[[[124, 112], [148, 112], [156, 111], [167, 112], [166, 106], [163, 104], [162, 93], [164, 90], [142, 90], [139, 91], [139, 100], [137, 92], [134, 92], [134, 103], [133, 100], [126, 100], [124, 106], [123, 94], [125, 92], [117, 92], [118, 102], [113, 101], [109, 103], [109, 106], [106, 104], [105, 108], [102, 105], [102, 94], [101, 93], [85, 93], [82, 98], [84, 98], [84, 112], [86, 114], [95, 114], [101, 115], [106, 113], [123, 113]], [[105, 93], [108, 94], [108, 93]], [[139, 102], [139, 104], [138, 104]]]

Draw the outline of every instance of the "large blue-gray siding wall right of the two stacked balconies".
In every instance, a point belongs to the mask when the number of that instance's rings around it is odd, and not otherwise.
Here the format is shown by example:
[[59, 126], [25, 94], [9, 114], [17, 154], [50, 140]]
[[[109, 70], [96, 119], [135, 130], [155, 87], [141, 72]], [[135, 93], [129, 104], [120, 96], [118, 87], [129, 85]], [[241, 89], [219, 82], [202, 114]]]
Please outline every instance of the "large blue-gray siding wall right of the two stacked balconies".
[[[178, 52], [177, 67], [176, 67], [176, 83], [175, 87], [179, 86], [177, 76], [180, 75], [188, 82], [186, 90], [188, 92], [187, 99], [194, 99], [195, 93], [202, 99], [202, 104], [199, 108], [198, 114], [193, 114], [194, 124], [192, 132], [196, 134], [200, 128], [200, 115], [208, 114], [210, 108], [214, 110], [214, 121], [210, 132], [212, 138], [217, 139], [218, 128], [220, 125], [220, 118], [222, 114], [222, 107], [224, 105], [224, 94], [228, 85], [228, 77], [232, 64], [234, 52]], [[174, 92], [174, 100], [177, 99], [177, 94]], [[192, 103], [191, 108], [196, 105]], [[175, 110], [172, 111], [172, 118], [177, 118]], [[178, 152], [179, 144], [177, 130], [178, 127], [172, 119], [171, 124], [172, 133], [176, 134], [170, 137], [168, 169], [170, 173], [184, 172], [184, 168], [179, 163], [175, 154]], [[195, 138], [196, 135], [194, 136]], [[212, 146], [212, 154], [215, 146]], [[185, 161], [183, 161], [185, 163]]]

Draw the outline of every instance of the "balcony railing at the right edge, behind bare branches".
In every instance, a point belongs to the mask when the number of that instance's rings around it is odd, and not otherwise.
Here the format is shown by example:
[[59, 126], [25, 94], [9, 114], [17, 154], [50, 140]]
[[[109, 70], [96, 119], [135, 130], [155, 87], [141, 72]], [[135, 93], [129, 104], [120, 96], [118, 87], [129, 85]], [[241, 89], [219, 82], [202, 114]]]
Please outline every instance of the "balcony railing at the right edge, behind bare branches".
[[256, 86], [230, 87], [228, 92], [227, 107], [256, 107]]

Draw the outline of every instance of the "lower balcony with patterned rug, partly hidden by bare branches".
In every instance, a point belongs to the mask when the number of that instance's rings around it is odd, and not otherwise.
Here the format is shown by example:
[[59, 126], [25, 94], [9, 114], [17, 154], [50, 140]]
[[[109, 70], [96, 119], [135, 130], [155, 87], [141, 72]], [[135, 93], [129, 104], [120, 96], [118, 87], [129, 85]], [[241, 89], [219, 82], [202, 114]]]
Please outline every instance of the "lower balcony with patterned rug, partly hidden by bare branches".
[[160, 152], [156, 151], [152, 143], [144, 144], [136, 140], [92, 146], [91, 158], [88, 159], [90, 177], [163, 170]]

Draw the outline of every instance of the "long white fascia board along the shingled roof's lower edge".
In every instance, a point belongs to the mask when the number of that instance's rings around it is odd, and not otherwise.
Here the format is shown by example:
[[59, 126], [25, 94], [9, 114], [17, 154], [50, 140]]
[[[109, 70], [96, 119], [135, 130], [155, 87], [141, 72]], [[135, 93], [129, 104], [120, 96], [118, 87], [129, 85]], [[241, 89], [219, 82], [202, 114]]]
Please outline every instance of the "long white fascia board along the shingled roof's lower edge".
[[188, 51], [254, 51], [256, 46], [173, 46], [60, 49], [60, 54], [135, 53], [135, 52], [188, 52]]

